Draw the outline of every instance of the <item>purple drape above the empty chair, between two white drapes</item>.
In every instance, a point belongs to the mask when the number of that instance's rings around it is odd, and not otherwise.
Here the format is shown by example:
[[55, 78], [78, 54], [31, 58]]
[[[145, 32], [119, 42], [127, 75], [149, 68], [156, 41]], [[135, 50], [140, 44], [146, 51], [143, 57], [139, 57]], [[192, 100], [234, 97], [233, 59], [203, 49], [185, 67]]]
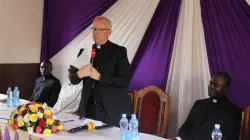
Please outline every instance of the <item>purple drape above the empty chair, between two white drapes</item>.
[[181, 0], [160, 0], [131, 64], [129, 90], [155, 85], [165, 90]]

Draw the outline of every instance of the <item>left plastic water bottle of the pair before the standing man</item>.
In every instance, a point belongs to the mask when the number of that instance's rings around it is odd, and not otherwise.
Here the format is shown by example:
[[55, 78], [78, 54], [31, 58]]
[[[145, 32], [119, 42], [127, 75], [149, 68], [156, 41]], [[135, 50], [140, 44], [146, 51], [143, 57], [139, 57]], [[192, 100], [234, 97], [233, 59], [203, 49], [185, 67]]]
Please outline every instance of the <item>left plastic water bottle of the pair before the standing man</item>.
[[128, 119], [126, 114], [122, 114], [120, 120], [120, 137], [122, 140], [125, 140], [128, 133]]

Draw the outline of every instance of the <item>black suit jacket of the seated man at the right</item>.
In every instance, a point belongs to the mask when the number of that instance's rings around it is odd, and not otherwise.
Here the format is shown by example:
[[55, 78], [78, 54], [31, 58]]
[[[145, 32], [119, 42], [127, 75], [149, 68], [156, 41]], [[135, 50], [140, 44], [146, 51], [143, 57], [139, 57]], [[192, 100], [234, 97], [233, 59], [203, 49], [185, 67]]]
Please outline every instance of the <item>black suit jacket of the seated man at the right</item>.
[[222, 140], [238, 140], [241, 110], [226, 97], [217, 100], [217, 103], [210, 98], [197, 100], [178, 135], [183, 140], [211, 140], [215, 124], [220, 124]]

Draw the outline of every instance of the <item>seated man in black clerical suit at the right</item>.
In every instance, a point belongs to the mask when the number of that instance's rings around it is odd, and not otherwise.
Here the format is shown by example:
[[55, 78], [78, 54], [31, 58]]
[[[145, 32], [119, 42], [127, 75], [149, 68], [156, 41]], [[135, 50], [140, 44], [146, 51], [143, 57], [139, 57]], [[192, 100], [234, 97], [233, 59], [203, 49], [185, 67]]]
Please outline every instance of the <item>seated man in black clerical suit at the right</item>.
[[179, 130], [182, 140], [211, 140], [215, 124], [220, 125], [222, 140], [238, 140], [241, 110], [226, 97], [231, 78], [226, 72], [213, 75], [208, 85], [210, 98], [197, 100]]

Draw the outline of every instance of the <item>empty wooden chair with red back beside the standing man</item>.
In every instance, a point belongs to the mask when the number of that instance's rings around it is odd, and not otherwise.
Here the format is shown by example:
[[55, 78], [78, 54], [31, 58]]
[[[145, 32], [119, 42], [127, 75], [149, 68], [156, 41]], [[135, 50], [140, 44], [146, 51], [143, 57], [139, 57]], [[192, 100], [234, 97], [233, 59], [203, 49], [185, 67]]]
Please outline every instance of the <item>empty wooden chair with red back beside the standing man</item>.
[[170, 97], [156, 86], [148, 86], [134, 94], [134, 113], [139, 131], [164, 137], [167, 133]]

